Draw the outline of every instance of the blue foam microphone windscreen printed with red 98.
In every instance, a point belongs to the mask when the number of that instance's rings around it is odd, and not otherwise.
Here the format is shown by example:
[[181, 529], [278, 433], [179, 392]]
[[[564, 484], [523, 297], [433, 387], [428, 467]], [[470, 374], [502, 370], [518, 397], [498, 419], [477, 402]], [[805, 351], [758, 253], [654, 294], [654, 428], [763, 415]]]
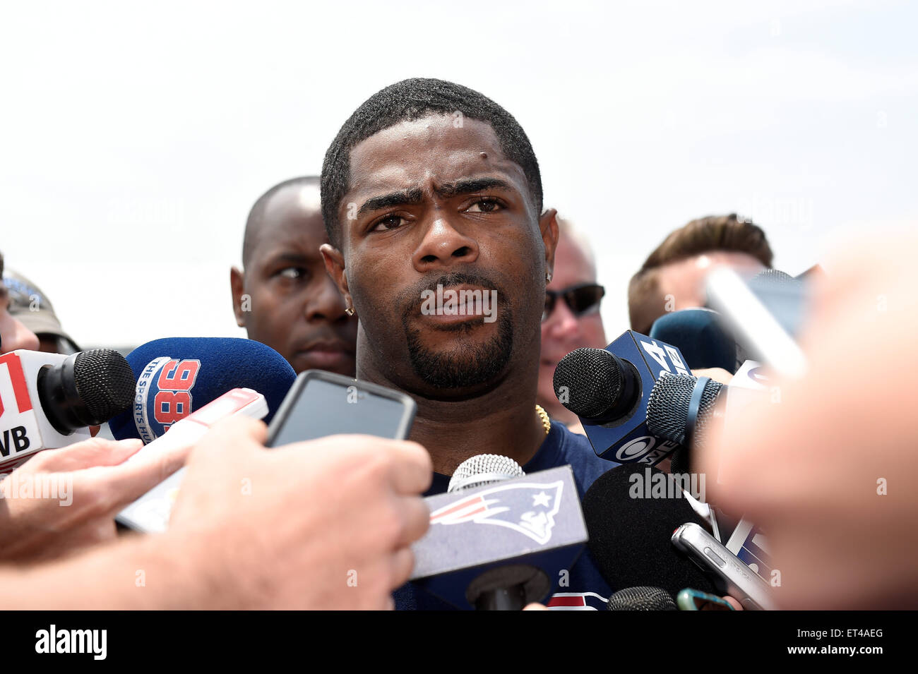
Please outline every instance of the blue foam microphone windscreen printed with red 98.
[[170, 425], [223, 393], [249, 388], [268, 403], [265, 423], [277, 411], [296, 372], [273, 348], [236, 337], [166, 337], [128, 354], [137, 390], [128, 412], [108, 422], [112, 436], [162, 436]]

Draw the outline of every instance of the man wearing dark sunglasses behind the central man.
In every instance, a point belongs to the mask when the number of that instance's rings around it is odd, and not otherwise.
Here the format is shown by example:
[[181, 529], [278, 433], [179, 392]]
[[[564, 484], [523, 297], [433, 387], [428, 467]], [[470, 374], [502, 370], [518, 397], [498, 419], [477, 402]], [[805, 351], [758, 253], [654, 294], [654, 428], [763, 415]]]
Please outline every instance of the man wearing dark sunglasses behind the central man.
[[599, 315], [599, 304], [606, 291], [596, 282], [596, 261], [588, 241], [561, 218], [558, 228], [554, 276], [545, 286], [536, 400], [550, 417], [576, 433], [583, 433], [577, 414], [558, 402], [552, 380], [558, 361], [575, 348], [604, 348], [608, 344]]

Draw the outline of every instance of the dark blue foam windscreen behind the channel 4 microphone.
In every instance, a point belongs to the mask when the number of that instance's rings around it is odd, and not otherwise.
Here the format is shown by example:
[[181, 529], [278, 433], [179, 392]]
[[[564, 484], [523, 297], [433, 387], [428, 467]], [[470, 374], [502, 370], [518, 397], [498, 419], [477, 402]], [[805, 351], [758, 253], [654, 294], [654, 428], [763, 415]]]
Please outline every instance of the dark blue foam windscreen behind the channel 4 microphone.
[[674, 311], [657, 318], [648, 337], [678, 348], [690, 370], [723, 368], [735, 373], [736, 341], [719, 318], [716, 311], [703, 307]]

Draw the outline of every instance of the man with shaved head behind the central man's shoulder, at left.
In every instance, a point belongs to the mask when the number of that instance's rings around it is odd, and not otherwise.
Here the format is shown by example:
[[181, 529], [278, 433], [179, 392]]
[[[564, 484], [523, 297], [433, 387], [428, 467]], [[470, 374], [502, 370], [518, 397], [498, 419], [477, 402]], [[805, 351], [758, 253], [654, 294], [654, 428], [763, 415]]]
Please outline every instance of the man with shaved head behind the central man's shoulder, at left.
[[274, 185], [252, 206], [242, 243], [242, 270], [229, 271], [236, 323], [274, 348], [297, 373], [329, 370], [353, 377], [357, 318], [325, 271], [328, 243], [319, 178]]

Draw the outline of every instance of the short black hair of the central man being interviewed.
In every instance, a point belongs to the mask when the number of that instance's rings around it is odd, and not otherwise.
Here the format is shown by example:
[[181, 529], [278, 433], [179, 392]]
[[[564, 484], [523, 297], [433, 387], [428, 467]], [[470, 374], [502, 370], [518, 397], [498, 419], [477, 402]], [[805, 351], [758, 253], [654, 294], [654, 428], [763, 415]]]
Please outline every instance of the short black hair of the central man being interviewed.
[[464, 117], [491, 125], [504, 156], [517, 163], [526, 175], [536, 212], [542, 213], [539, 162], [520, 123], [484, 94], [461, 84], [415, 77], [391, 84], [366, 99], [344, 122], [325, 153], [322, 162], [322, 218], [333, 246], [341, 248], [338, 206], [351, 183], [351, 150], [383, 129], [431, 113], [461, 113]]

